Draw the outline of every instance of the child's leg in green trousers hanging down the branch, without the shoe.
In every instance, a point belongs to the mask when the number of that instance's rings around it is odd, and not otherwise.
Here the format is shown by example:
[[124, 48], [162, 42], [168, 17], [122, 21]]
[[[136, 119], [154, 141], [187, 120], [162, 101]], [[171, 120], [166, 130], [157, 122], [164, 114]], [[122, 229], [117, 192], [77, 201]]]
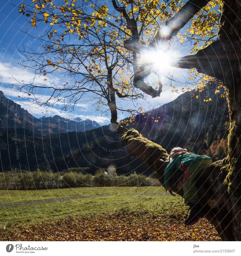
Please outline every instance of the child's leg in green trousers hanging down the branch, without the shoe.
[[201, 161], [190, 165], [185, 171], [183, 178], [183, 197], [186, 205], [189, 205], [190, 201], [198, 201], [198, 189], [195, 186], [196, 177], [200, 171], [203, 171], [211, 163], [212, 160], [202, 159]]

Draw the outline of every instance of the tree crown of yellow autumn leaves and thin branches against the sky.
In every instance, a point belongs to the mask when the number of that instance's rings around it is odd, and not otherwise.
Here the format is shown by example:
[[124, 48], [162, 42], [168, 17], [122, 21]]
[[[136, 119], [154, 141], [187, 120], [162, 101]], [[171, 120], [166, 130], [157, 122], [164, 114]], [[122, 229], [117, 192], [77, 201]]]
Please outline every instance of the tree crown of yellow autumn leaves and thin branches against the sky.
[[[169, 49], [173, 44], [188, 45], [190, 52], [195, 53], [217, 38], [221, 1], [201, 2], [205, 2], [204, 7], [195, 10], [193, 17], [187, 20], [188, 25], [186, 21], [178, 24], [184, 26], [183, 29], [173, 30], [167, 38], [168, 28], [177, 27], [175, 18], [171, 17], [185, 6], [181, 0], [64, 0], [58, 5], [51, 0], [29, 0], [20, 5], [19, 12], [29, 17], [33, 27], [41, 23], [49, 24], [49, 27], [39, 38], [37, 52], [30, 48], [24, 51], [27, 64], [23, 65], [34, 68], [36, 75], [58, 71], [68, 82], [50, 87], [21, 82], [20, 89], [34, 94], [36, 88], [45, 88], [50, 96], [43, 101], [37, 100], [38, 103], [52, 106], [61, 101], [64, 109], [73, 108], [84, 94], [89, 93], [89, 97], [95, 99], [97, 109], [107, 112], [106, 106], [109, 107], [111, 123], [117, 122], [117, 110], [132, 116], [143, 112], [142, 107], [125, 108], [116, 103], [117, 97], [135, 105], [139, 98], [157, 97], [162, 92], [160, 73], [153, 68], [155, 60], [143, 60], [142, 56], [147, 53], [155, 58], [156, 50], [153, 55], [149, 54], [155, 48], [164, 51], [160, 41], [168, 41], [166, 47]], [[160, 40], [161, 33], [165, 40]], [[128, 47], [128, 44], [136, 44], [138, 49]], [[151, 73], [156, 78], [146, 79]], [[202, 90], [207, 81], [212, 80], [195, 69], [189, 70], [189, 74], [192, 76], [181, 88], [182, 92], [193, 89], [196, 84]], [[170, 90], [179, 91], [172, 83], [171, 75], [169, 79]]]

